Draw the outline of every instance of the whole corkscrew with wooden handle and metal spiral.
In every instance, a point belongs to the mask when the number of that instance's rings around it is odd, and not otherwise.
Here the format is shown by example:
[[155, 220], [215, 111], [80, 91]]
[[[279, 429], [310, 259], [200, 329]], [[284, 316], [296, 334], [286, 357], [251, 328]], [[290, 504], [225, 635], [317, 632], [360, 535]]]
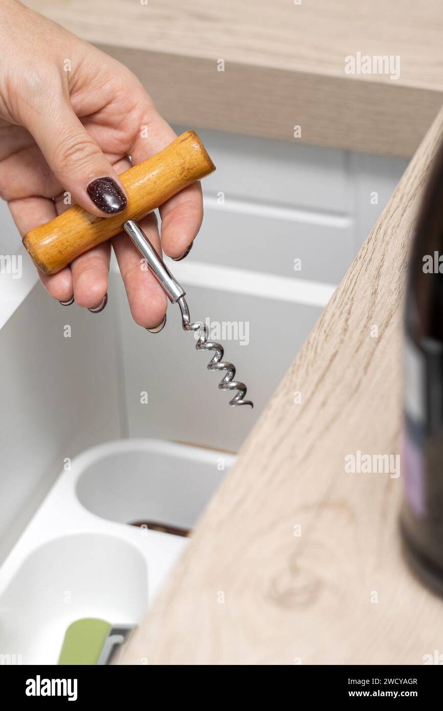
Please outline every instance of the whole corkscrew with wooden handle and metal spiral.
[[206, 324], [201, 321], [191, 322], [184, 289], [137, 224], [137, 220], [214, 170], [215, 166], [198, 135], [187, 131], [160, 153], [119, 176], [129, 198], [122, 212], [110, 218], [100, 218], [90, 215], [80, 205], [73, 205], [57, 218], [27, 232], [23, 237], [23, 245], [44, 274], [56, 274], [76, 257], [114, 237], [123, 228], [170, 301], [178, 304], [183, 329], [197, 334], [197, 350], [213, 353], [208, 370], [225, 372], [218, 385], [219, 389], [237, 391], [229, 404], [233, 407], [253, 407], [250, 400], [245, 400], [245, 383], [234, 380], [235, 366], [223, 360], [223, 346], [208, 340]]

